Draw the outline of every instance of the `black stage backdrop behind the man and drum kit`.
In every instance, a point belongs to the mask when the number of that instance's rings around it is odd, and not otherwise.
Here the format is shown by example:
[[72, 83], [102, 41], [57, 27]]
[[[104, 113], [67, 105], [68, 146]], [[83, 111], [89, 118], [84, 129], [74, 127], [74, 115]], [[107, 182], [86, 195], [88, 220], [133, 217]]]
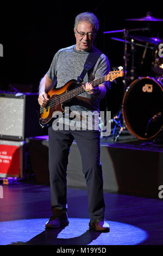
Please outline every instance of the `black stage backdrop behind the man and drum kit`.
[[[123, 28], [146, 27], [146, 22], [126, 21], [129, 18], [146, 16], [147, 11], [163, 18], [161, 1], [43, 1], [5, 3], [1, 9], [0, 43], [3, 57], [0, 58], [1, 90], [37, 92], [40, 79], [49, 69], [55, 52], [75, 44], [74, 18], [83, 11], [90, 11], [99, 19], [99, 32], [95, 46], [108, 56], [111, 68], [123, 65], [124, 44], [111, 39], [123, 39], [123, 33], [103, 34], [105, 31]], [[162, 38], [163, 22], [149, 22], [151, 31], [135, 32], [134, 35]], [[130, 38], [129, 38], [130, 40]], [[135, 48], [135, 78], [153, 76], [151, 72], [152, 50], [147, 50], [145, 63], [140, 66], [143, 47]], [[128, 45], [130, 54], [130, 45]], [[130, 56], [128, 74], [130, 73]], [[121, 107], [123, 83], [112, 83], [101, 108], [115, 114]], [[130, 84], [130, 81], [128, 82]]]

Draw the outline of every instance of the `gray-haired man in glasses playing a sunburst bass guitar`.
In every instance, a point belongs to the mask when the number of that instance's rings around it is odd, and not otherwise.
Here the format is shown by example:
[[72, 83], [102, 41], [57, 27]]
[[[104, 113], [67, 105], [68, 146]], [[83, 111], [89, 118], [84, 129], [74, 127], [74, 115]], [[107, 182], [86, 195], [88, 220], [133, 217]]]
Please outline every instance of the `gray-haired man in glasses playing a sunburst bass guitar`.
[[[77, 80], [84, 68], [88, 54], [95, 48], [93, 42], [96, 38], [98, 26], [98, 19], [94, 14], [81, 13], [77, 15], [74, 23], [76, 44], [62, 48], [55, 54], [47, 74], [40, 82], [38, 101], [42, 108], [48, 106], [49, 90], [53, 87], [60, 89], [68, 81]], [[72, 112], [99, 112], [99, 102], [105, 96], [106, 88], [109, 88], [110, 83], [102, 81], [98, 86], [93, 87], [90, 81], [107, 75], [109, 71], [108, 58], [102, 53], [84, 77], [83, 92], [74, 97], [72, 101], [67, 102], [67, 106], [70, 107]], [[53, 216], [46, 223], [46, 228], [59, 228], [68, 225], [66, 171], [68, 154], [73, 139], [75, 139], [82, 156], [83, 173], [86, 180], [90, 215], [89, 227], [97, 231], [109, 231], [109, 224], [104, 221], [105, 203], [99, 130], [56, 130], [53, 129], [52, 125], [48, 127], [48, 135]]]

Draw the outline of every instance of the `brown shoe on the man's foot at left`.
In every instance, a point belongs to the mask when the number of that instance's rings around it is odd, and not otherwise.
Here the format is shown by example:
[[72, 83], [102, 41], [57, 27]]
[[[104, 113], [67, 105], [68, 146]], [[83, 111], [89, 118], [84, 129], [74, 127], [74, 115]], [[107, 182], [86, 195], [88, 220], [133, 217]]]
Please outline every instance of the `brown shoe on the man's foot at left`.
[[67, 213], [65, 210], [53, 209], [53, 216], [46, 222], [46, 228], [60, 228], [69, 224]]

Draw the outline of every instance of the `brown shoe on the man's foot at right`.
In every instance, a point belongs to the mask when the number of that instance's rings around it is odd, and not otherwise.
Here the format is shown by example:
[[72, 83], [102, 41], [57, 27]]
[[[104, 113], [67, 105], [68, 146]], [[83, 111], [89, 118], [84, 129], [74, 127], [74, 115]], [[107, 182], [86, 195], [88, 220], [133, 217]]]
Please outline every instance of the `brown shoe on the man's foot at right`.
[[90, 220], [89, 227], [90, 229], [94, 229], [96, 231], [101, 231], [101, 232], [110, 231], [109, 224], [104, 220]]

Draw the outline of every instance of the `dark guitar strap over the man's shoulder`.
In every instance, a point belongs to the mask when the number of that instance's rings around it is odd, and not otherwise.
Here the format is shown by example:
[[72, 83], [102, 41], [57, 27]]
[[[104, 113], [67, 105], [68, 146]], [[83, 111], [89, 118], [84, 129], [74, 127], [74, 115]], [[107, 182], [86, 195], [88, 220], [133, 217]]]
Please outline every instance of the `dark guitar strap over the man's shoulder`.
[[92, 51], [87, 56], [82, 73], [80, 74], [80, 76], [78, 76], [77, 83], [83, 82], [86, 72], [89, 71], [92, 68], [92, 66], [95, 65], [97, 59], [99, 58], [99, 56], [101, 56], [101, 54], [101, 51], [99, 51], [96, 47], [93, 47]]

